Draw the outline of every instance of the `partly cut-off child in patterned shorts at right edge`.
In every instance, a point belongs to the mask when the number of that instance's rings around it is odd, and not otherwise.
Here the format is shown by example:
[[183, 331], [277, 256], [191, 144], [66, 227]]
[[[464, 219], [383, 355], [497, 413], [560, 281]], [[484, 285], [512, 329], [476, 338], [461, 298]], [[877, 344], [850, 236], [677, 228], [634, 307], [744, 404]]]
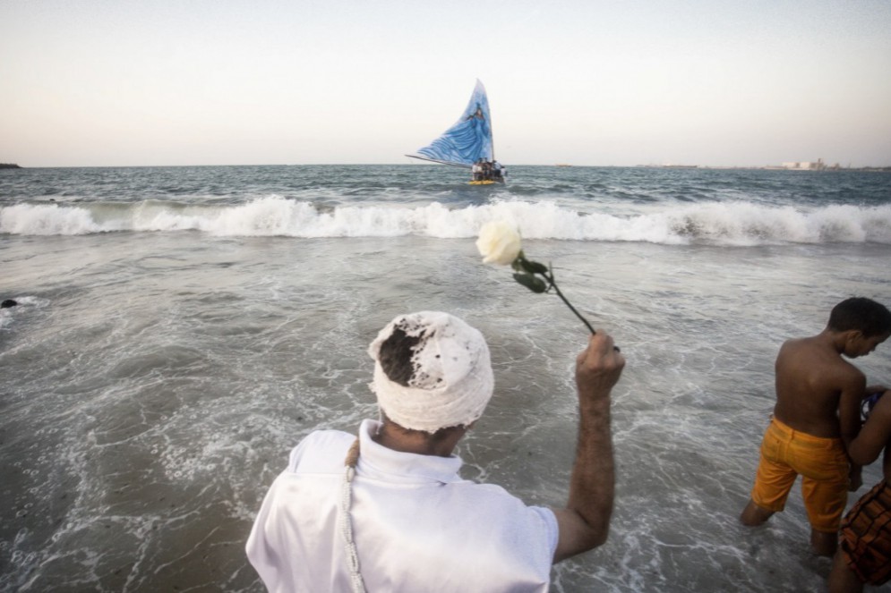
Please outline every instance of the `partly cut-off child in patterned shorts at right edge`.
[[882, 461], [882, 479], [842, 522], [842, 542], [829, 574], [829, 593], [860, 593], [891, 579], [891, 391], [885, 391], [848, 447], [854, 463]]

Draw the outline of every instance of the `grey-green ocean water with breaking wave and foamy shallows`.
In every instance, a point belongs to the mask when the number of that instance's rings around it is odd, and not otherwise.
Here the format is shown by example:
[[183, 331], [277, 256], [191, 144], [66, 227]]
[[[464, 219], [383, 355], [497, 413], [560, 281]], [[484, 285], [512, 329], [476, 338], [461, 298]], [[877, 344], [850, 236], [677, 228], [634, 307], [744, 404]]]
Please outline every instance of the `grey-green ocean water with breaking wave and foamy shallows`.
[[[492, 350], [467, 479], [565, 502], [587, 330], [475, 250], [527, 257], [614, 336], [608, 542], [553, 591], [822, 590], [799, 489], [738, 516], [787, 338], [891, 305], [891, 174], [439, 165], [0, 171], [0, 589], [261, 591], [244, 542], [310, 431], [376, 417], [365, 350], [450, 311]], [[855, 361], [891, 384], [891, 344]], [[864, 470], [864, 487], [879, 479]], [[361, 543], [360, 543], [361, 546]]]

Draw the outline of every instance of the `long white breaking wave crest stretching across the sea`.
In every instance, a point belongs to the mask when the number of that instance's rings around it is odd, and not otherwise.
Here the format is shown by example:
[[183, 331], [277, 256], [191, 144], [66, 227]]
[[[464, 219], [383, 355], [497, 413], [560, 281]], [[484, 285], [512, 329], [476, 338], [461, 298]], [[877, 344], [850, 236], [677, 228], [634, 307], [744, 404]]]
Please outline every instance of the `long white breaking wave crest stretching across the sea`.
[[278, 196], [241, 205], [194, 206], [143, 201], [133, 204], [18, 204], [0, 208], [0, 233], [74, 235], [89, 233], [198, 231], [214, 236], [473, 237], [485, 222], [516, 224], [527, 239], [564, 241], [705, 242], [758, 245], [779, 242], [891, 243], [891, 206], [827, 206], [797, 209], [752, 202], [703, 202], [687, 206], [639, 207], [633, 213], [580, 212], [553, 201], [494, 201], [447, 208], [439, 202], [416, 207], [339, 206], [320, 208]]

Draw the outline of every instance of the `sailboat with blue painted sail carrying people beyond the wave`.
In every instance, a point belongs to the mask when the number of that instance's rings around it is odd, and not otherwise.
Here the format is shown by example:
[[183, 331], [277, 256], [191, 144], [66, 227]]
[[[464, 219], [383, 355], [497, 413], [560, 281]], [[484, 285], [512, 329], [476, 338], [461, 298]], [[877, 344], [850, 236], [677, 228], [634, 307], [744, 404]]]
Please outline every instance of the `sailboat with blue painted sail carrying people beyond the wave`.
[[492, 116], [483, 83], [476, 80], [474, 93], [458, 122], [424, 148], [418, 148], [417, 154], [406, 157], [470, 168], [473, 172], [471, 185], [503, 183], [507, 171], [495, 160]]

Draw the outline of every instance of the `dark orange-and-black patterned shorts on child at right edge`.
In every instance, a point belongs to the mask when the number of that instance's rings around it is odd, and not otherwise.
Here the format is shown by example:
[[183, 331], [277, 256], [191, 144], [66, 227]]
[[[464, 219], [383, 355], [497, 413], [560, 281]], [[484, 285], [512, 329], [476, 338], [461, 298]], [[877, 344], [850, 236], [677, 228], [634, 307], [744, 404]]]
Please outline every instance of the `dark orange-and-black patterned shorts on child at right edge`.
[[870, 585], [891, 579], [891, 487], [880, 481], [842, 521], [840, 543], [845, 562]]

